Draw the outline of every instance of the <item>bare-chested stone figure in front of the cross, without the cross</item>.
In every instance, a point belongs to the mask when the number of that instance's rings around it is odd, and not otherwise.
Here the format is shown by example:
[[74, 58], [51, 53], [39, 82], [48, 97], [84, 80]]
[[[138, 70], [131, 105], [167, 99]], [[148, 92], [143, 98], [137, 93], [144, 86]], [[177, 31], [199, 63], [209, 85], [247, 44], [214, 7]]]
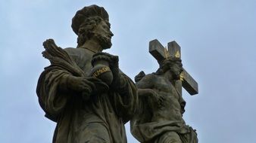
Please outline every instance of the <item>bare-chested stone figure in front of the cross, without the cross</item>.
[[143, 143], [196, 143], [197, 134], [183, 120], [186, 102], [174, 83], [183, 71], [179, 58], [169, 57], [158, 71], [136, 76], [139, 110], [131, 120], [132, 134]]

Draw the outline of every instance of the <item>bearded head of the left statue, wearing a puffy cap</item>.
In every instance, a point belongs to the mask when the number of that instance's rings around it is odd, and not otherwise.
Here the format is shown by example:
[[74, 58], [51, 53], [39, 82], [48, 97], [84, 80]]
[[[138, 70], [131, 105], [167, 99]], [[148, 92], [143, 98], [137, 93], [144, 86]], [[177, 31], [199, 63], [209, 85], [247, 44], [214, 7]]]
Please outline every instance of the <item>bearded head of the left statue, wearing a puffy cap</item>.
[[78, 35], [77, 47], [82, 46], [89, 39], [95, 39], [103, 49], [111, 47], [111, 37], [108, 13], [104, 8], [91, 5], [76, 12], [71, 25], [73, 32]]

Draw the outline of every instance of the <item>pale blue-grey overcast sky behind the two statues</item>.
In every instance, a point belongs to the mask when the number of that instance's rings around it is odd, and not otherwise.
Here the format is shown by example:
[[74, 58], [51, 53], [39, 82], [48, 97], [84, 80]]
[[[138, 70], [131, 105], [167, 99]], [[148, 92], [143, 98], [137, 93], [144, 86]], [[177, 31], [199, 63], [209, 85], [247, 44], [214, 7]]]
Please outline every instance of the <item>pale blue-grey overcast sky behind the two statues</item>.
[[[36, 84], [49, 64], [42, 42], [76, 47], [71, 19], [84, 6], [105, 7], [114, 33], [109, 53], [133, 79], [158, 68], [148, 53], [157, 38], [175, 40], [183, 67], [198, 82], [186, 99], [186, 123], [201, 143], [256, 142], [255, 0], [0, 0], [0, 142], [49, 143], [55, 123], [44, 117]], [[129, 143], [136, 143], [126, 124]]]

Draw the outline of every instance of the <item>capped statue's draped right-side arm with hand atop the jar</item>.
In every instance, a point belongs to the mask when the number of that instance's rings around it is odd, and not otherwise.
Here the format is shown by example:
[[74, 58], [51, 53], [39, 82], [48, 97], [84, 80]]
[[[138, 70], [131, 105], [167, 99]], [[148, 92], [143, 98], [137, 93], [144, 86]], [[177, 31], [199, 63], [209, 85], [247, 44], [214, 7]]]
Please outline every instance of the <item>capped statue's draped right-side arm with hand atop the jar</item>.
[[113, 81], [110, 85], [110, 93], [112, 94], [110, 98], [118, 116], [126, 123], [136, 113], [139, 105], [136, 85], [120, 70], [118, 56], [109, 53], [96, 53], [93, 58], [98, 55], [107, 56], [110, 59], [109, 67], [113, 74]]

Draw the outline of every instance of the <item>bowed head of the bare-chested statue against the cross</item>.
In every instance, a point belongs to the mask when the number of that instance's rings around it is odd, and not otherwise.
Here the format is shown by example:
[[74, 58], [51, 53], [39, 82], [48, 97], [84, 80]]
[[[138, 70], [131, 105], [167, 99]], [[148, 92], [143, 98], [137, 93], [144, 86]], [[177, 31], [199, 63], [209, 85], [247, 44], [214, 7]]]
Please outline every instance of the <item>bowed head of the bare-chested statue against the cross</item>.
[[156, 72], [157, 75], [167, 75], [173, 80], [180, 79], [180, 74], [183, 71], [183, 64], [180, 58], [168, 57], [161, 62], [160, 68]]

